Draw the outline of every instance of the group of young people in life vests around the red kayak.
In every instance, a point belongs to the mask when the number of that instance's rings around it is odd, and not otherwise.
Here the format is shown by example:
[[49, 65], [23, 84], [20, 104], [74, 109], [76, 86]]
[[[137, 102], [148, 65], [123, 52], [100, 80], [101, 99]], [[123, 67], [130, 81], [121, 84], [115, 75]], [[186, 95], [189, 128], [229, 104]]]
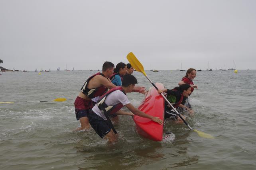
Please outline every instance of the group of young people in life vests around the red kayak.
[[[116, 67], [111, 62], [104, 62], [102, 73], [96, 73], [85, 81], [81, 92], [75, 99], [75, 115], [80, 121], [81, 127], [77, 130], [89, 129], [90, 126], [96, 133], [108, 142], [117, 141], [118, 134], [111, 121], [117, 121], [118, 115], [138, 115], [149, 118], [152, 121], [163, 124], [158, 117], [148, 115], [135, 108], [126, 93], [138, 92], [147, 94], [145, 87], [136, 86], [137, 79], [132, 75], [134, 68], [131, 64], [118, 63]], [[167, 99], [173, 103], [178, 110], [187, 110], [193, 113], [187, 98], [197, 88], [193, 84], [196, 76], [195, 69], [187, 70], [186, 76], [178, 83], [179, 87], [174, 89], [159, 89], [159, 93], [166, 93]], [[187, 102], [187, 105], [184, 103]], [[130, 112], [120, 110], [126, 106]], [[165, 118], [172, 118], [179, 122], [177, 114], [165, 103]]]

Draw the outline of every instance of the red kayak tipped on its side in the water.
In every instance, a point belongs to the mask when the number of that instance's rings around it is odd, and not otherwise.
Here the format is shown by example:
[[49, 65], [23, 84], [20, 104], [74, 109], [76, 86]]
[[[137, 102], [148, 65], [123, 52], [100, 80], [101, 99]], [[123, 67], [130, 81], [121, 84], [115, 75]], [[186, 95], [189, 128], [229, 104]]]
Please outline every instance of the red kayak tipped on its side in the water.
[[[161, 83], [156, 83], [156, 86], [158, 89], [164, 88]], [[164, 119], [164, 99], [154, 87], [150, 88], [138, 109], [151, 116], [159, 117], [161, 120]], [[163, 139], [163, 125], [136, 115], [134, 116], [134, 122], [138, 133], [143, 137], [153, 141], [161, 141]]]

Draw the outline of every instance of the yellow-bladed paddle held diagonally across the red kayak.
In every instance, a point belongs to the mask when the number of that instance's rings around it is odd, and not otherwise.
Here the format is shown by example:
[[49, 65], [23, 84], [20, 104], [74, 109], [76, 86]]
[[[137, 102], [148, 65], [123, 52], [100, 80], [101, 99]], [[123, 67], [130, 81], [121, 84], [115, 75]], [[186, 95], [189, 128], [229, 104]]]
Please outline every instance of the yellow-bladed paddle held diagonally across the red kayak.
[[[158, 90], [158, 87], [156, 87], [156, 85], [150, 80], [150, 78], [148, 78], [147, 74], [145, 73], [144, 71], [144, 68], [142, 66], [142, 64], [140, 63], [140, 61], [136, 58], [136, 56], [130, 52], [128, 55], [127, 55], [127, 59], [128, 61], [130, 62], [130, 64], [132, 65], [132, 67], [143, 73], [145, 75], [145, 77], [150, 81], [150, 83]], [[187, 127], [189, 127], [190, 130], [193, 130], [195, 132], [197, 132], [197, 134], [201, 137], [205, 137], [205, 138], [209, 138], [209, 139], [214, 139], [214, 137], [212, 135], [209, 135], [207, 133], [204, 133], [202, 131], [198, 131], [196, 129], [192, 129], [189, 124], [184, 120], [184, 118], [179, 114], [179, 112], [177, 112], [177, 110], [171, 105], [171, 103], [166, 99], [166, 97], [163, 95], [163, 93], [161, 93], [163, 99], [165, 99], [165, 101], [167, 101], [167, 103], [171, 106], [171, 108], [173, 108], [173, 110], [175, 110], [175, 112], [177, 113], [177, 115], [181, 118], [181, 120], [183, 120], [183, 122], [187, 125]]]

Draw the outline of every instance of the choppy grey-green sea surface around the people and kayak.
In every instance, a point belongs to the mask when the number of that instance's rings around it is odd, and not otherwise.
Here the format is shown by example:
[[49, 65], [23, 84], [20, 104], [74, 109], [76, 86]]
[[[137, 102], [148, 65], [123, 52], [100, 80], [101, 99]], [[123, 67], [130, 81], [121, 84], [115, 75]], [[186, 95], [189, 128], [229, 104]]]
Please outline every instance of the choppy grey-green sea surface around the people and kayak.
[[[189, 97], [195, 110], [189, 125], [211, 134], [200, 137], [185, 124], [165, 121], [164, 139], [138, 135], [130, 116], [119, 116], [118, 142], [108, 145], [80, 126], [74, 101], [98, 71], [2, 72], [0, 75], [0, 170], [255, 170], [256, 70], [198, 71]], [[172, 89], [185, 71], [147, 71], [153, 82]], [[138, 85], [152, 87], [135, 71]], [[128, 93], [138, 107], [140, 93]], [[65, 102], [54, 102], [66, 98]], [[37, 102], [49, 100], [49, 102]], [[28, 102], [32, 101], [32, 102]]]

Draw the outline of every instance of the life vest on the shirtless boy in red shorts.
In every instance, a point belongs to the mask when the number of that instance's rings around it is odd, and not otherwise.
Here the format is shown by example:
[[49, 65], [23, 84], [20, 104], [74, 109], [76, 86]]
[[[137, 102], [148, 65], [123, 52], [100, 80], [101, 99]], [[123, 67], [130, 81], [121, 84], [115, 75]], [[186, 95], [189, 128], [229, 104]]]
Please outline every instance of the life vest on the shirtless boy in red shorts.
[[89, 81], [90, 81], [95, 75], [102, 75], [103, 77], [105, 77], [104, 74], [102, 74], [102, 73], [96, 73], [96, 74], [92, 75], [91, 77], [89, 77], [89, 79], [87, 79], [87, 81], [85, 81], [85, 84], [84, 84], [83, 87], [81, 88], [82, 93], [85, 94], [85, 95], [86, 95], [87, 97], [89, 97], [90, 99], [93, 99], [93, 98], [95, 98], [95, 97], [101, 96], [101, 95], [104, 94], [104, 93], [106, 92], [106, 90], [107, 90], [107, 88], [104, 87], [104, 86], [100, 86], [100, 87], [97, 87], [97, 88], [95, 88], [95, 89], [89, 89], [89, 88], [87, 87]]

